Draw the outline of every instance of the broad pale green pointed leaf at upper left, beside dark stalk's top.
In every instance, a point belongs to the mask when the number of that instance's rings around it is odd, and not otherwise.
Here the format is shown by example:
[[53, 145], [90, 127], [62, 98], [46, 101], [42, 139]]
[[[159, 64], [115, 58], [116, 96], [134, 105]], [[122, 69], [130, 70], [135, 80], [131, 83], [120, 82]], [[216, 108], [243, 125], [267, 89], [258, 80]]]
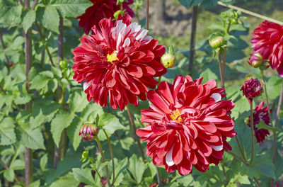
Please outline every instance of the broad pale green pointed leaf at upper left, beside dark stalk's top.
[[55, 33], [59, 33], [59, 13], [54, 6], [37, 8], [37, 14], [42, 22], [42, 26]]

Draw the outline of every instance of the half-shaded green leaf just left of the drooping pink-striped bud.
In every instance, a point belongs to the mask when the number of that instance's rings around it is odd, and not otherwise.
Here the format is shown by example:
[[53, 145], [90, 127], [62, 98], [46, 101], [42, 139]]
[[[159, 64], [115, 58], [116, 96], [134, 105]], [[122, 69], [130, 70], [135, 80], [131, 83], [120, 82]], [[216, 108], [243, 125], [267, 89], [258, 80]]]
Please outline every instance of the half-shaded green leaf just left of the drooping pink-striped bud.
[[79, 144], [81, 143], [81, 137], [79, 136], [79, 132], [81, 130], [81, 125], [83, 125], [83, 122], [77, 118], [71, 123], [69, 128], [67, 129], [67, 135], [69, 137], [69, 140], [71, 141], [71, 145], [73, 145], [75, 151], [79, 147]]

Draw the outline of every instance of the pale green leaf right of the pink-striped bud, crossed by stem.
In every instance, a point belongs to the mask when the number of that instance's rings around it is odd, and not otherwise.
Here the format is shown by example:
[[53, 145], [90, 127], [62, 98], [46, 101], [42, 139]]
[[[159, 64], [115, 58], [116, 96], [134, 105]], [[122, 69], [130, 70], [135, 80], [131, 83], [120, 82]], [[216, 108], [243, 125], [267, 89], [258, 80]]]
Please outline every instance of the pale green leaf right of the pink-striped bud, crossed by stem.
[[[108, 136], [110, 137], [116, 130], [124, 129], [118, 118], [110, 113], [103, 113], [99, 116], [98, 126], [103, 126]], [[101, 141], [106, 140], [106, 136], [102, 130], [98, 132], [98, 137]]]

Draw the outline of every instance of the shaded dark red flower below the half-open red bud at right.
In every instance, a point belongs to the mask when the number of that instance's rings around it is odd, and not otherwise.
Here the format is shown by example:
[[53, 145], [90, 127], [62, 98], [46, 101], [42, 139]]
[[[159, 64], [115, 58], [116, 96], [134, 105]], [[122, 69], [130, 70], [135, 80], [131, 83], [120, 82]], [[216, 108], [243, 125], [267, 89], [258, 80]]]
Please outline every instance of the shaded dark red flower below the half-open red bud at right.
[[[253, 113], [253, 128], [255, 130], [255, 137], [257, 142], [262, 143], [265, 137], [270, 134], [266, 129], [259, 129], [258, 123], [264, 121], [266, 125], [270, 125], [270, 116], [268, 115], [268, 108], [262, 108], [264, 102], [262, 101], [258, 106], [255, 107], [255, 112]], [[248, 126], [250, 127], [250, 117], [248, 117]]]

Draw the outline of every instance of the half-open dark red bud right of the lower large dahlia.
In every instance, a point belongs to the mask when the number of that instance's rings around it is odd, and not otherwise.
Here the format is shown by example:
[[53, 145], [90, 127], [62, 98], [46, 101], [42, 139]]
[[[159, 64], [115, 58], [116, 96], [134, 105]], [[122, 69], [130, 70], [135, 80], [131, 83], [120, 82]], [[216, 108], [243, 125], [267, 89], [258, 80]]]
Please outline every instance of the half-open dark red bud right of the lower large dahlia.
[[258, 79], [248, 77], [241, 87], [241, 91], [243, 91], [243, 96], [246, 96], [248, 102], [251, 103], [254, 97], [260, 96], [262, 93], [262, 85]]

